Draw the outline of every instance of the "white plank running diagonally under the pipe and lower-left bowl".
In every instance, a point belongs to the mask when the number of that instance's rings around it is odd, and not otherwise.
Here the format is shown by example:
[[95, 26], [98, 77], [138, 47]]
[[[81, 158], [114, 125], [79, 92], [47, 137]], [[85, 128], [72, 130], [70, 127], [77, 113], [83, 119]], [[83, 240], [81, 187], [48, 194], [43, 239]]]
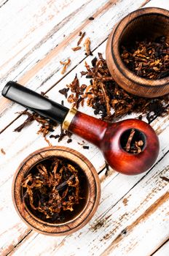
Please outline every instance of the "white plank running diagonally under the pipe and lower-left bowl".
[[[103, 45], [101, 46], [103, 47]], [[98, 49], [101, 50], [101, 49]], [[91, 57], [90, 57], [91, 58]], [[81, 64], [83, 65], [83, 64]], [[78, 67], [80, 70], [82, 70], [82, 67]], [[70, 73], [67, 76], [68, 80], [72, 80], [74, 78], [74, 74]], [[58, 95], [58, 90], [63, 88], [63, 84], [60, 83], [60, 86], [54, 87], [49, 93], [47, 94], [52, 99], [57, 95], [58, 100], [62, 100], [63, 97]], [[67, 105], [68, 103], [66, 103]], [[87, 112], [87, 108], [83, 109], [84, 112]], [[22, 132], [12, 132], [15, 127], [17, 127], [20, 123], [23, 122], [25, 117], [21, 117], [15, 121], [11, 126], [9, 126], [1, 135], [1, 147], [4, 148], [4, 151], [6, 151], [6, 155], [2, 155], [0, 161], [2, 161], [1, 164], [1, 191], [0, 191], [0, 200], [3, 203], [3, 206], [1, 208], [0, 212], [0, 219], [3, 219], [3, 216], [7, 215], [7, 211], [9, 211], [9, 219], [12, 219], [12, 223], [9, 222], [8, 229], [2, 225], [0, 228], [0, 233], [3, 233], [1, 236], [0, 244], [3, 244], [3, 251], [9, 252], [11, 250], [11, 244], [12, 246], [15, 246], [18, 241], [20, 241], [20, 237], [23, 238], [28, 233], [27, 228], [23, 224], [23, 222], [20, 220], [19, 217], [17, 217], [17, 214], [15, 213], [15, 210], [12, 208], [12, 200], [10, 195], [6, 195], [6, 191], [10, 190], [10, 187], [12, 185], [12, 176], [15, 173], [15, 170], [19, 163], [23, 160], [24, 157], [26, 157], [28, 154], [30, 154], [32, 151], [46, 146], [46, 142], [42, 139], [42, 136], [36, 135], [36, 131], [39, 129], [37, 127], [37, 124], [31, 124], [31, 126], [25, 128]], [[158, 120], [158, 121], [157, 121]], [[158, 118], [155, 120], [152, 125], [158, 129], [160, 126], [159, 135], [160, 135], [160, 142], [161, 142], [161, 148], [160, 148], [160, 156], [159, 159], [166, 154], [168, 151], [168, 141], [166, 140], [166, 137], [168, 137], [169, 127], [168, 127], [168, 117], [166, 118]], [[59, 131], [60, 128], [56, 130]], [[51, 140], [51, 142], [54, 141], [54, 145], [57, 145], [56, 140]], [[73, 143], [66, 144], [66, 140], [63, 140], [58, 145], [63, 146], [70, 146], [71, 148], [74, 148], [78, 151], [81, 151], [82, 154], [84, 154], [88, 159], [90, 159], [91, 162], [93, 162], [93, 165], [97, 168], [97, 170], [101, 170], [104, 164], [103, 157], [101, 156], [101, 153], [96, 150], [96, 148], [90, 144], [90, 151], [82, 149], [82, 146], [80, 147], [77, 142], [82, 141], [79, 138], [73, 138]], [[5, 171], [4, 171], [5, 170]], [[141, 176], [133, 176], [133, 177], [127, 177], [127, 176], [117, 176], [117, 173], [112, 172], [108, 178], [105, 176], [102, 176], [102, 181], [104, 181], [103, 185], [103, 191], [105, 193], [106, 204], [108, 206], [111, 206], [111, 200], [114, 200], [114, 202], [117, 202], [122, 198], [137, 182], [141, 179], [142, 176], [145, 174], [142, 174]], [[113, 180], [115, 181], [114, 184], [111, 186], [115, 187], [117, 189], [117, 194], [114, 193], [114, 195], [109, 193], [109, 190], [106, 190], [105, 187], [108, 186], [108, 184]], [[126, 186], [127, 183], [127, 186]], [[118, 185], [116, 185], [118, 184]], [[119, 186], [120, 184], [120, 186]], [[104, 187], [105, 186], [105, 187]], [[117, 196], [118, 195], [118, 196]], [[101, 200], [102, 203], [102, 200]], [[8, 208], [4, 208], [4, 206], [8, 206]], [[12, 208], [12, 209], [11, 209]], [[105, 211], [105, 206], [102, 208], [102, 214]], [[18, 227], [18, 230], [15, 230], [15, 227]], [[15, 230], [15, 231], [13, 231]], [[15, 235], [14, 235], [15, 234]], [[30, 235], [31, 236], [31, 235]], [[17, 240], [18, 239], [18, 240]]]

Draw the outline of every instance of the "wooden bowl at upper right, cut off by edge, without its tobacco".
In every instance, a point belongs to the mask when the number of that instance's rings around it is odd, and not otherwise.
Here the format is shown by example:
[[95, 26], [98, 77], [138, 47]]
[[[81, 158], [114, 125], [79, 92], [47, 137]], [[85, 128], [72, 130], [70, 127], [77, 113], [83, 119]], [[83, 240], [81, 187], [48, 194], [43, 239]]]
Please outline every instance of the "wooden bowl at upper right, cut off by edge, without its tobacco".
[[131, 12], [114, 27], [106, 45], [106, 61], [119, 86], [141, 97], [159, 97], [169, 93], [169, 77], [157, 80], [138, 77], [125, 66], [120, 56], [122, 45], [145, 38], [153, 40], [162, 35], [169, 42], [169, 12], [160, 8]]

